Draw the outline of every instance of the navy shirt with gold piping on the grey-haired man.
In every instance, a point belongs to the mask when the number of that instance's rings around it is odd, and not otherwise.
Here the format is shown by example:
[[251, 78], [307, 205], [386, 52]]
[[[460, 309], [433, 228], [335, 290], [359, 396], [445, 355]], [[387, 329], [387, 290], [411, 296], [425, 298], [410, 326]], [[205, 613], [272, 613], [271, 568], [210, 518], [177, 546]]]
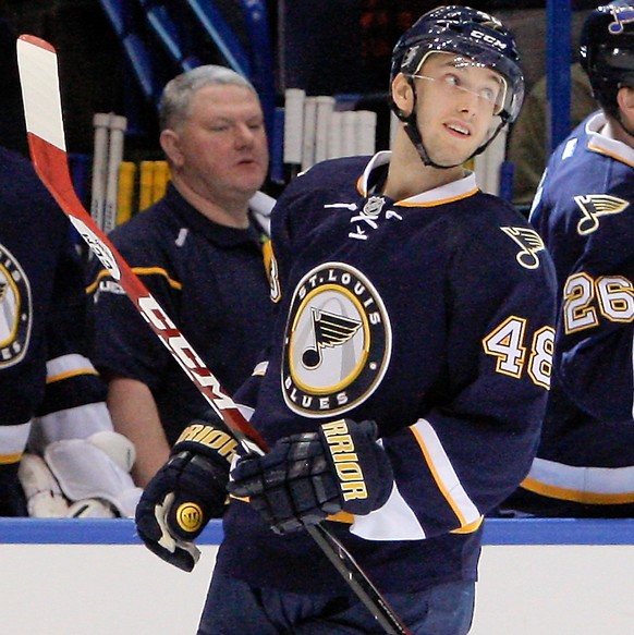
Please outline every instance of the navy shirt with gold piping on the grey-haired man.
[[[260, 232], [211, 222], [170, 184], [160, 202], [109, 237], [224, 390], [235, 391], [270, 331]], [[173, 443], [207, 402], [99, 262], [89, 281], [96, 366], [147, 384]]]

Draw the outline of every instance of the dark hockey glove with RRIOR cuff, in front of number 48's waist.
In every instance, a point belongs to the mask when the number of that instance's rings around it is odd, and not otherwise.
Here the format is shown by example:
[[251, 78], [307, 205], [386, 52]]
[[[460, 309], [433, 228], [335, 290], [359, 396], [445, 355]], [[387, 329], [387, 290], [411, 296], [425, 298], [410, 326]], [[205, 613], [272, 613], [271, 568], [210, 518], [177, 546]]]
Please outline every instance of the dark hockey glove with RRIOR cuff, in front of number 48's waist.
[[376, 439], [374, 422], [351, 419], [284, 437], [264, 456], [240, 459], [228, 489], [248, 497], [277, 534], [341, 511], [369, 514], [388, 500], [393, 484], [389, 459]]

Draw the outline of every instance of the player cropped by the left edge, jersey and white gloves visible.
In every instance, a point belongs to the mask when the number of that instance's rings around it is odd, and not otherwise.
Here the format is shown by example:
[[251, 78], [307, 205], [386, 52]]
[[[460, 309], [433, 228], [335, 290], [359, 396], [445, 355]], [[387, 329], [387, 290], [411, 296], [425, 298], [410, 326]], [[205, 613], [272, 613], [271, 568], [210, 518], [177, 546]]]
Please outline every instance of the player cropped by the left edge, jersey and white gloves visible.
[[[71, 224], [21, 155], [0, 148], [0, 515], [129, 516], [134, 449], [112, 430], [86, 356]], [[28, 450], [28, 452], [26, 452]]]

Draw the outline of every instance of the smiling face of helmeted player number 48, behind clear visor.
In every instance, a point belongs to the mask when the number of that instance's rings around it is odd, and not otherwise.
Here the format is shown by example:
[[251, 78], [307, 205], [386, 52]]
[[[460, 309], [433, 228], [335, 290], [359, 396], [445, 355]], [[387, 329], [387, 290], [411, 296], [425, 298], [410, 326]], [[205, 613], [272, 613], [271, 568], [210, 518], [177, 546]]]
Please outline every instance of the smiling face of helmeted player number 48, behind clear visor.
[[418, 129], [437, 163], [466, 160], [488, 138], [503, 99], [502, 77], [454, 53], [432, 53], [414, 76]]

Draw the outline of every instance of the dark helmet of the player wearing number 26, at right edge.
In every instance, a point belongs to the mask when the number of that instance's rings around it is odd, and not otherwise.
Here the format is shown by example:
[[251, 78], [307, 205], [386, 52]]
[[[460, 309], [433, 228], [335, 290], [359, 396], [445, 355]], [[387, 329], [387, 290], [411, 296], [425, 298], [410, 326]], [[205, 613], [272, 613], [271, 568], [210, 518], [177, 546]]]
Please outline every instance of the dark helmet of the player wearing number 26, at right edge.
[[634, 86], [634, 3], [617, 1], [595, 9], [582, 28], [580, 57], [595, 99], [620, 121], [619, 88]]

